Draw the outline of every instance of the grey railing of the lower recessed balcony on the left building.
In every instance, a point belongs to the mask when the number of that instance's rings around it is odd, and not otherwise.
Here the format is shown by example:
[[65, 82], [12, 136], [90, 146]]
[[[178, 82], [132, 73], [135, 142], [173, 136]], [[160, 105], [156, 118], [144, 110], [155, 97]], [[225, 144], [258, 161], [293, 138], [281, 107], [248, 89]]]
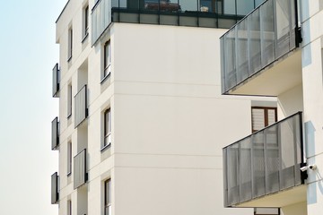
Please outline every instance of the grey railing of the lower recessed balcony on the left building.
[[74, 189], [84, 185], [86, 181], [86, 149], [84, 149], [74, 157]]

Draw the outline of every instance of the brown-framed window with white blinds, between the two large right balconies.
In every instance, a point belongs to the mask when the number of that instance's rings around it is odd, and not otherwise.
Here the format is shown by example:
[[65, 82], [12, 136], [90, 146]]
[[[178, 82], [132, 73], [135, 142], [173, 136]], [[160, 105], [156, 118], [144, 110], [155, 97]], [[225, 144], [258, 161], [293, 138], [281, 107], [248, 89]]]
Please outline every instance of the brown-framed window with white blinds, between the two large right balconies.
[[276, 107], [251, 107], [252, 133], [277, 122]]

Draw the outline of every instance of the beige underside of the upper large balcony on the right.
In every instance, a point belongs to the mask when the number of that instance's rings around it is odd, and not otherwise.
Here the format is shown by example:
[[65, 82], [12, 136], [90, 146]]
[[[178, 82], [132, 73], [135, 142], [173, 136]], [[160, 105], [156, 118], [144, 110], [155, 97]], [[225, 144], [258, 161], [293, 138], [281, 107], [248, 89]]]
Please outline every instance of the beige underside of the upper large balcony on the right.
[[[282, 59], [283, 58], [283, 59]], [[301, 83], [301, 50], [294, 50], [229, 90], [234, 95], [278, 96]]]

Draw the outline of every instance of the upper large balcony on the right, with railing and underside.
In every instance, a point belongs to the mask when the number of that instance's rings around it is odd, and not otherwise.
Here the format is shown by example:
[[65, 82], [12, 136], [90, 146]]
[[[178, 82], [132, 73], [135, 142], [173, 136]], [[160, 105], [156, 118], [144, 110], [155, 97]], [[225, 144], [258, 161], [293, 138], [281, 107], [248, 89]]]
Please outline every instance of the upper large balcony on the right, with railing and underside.
[[301, 83], [295, 2], [267, 0], [223, 35], [223, 94], [277, 96]]

